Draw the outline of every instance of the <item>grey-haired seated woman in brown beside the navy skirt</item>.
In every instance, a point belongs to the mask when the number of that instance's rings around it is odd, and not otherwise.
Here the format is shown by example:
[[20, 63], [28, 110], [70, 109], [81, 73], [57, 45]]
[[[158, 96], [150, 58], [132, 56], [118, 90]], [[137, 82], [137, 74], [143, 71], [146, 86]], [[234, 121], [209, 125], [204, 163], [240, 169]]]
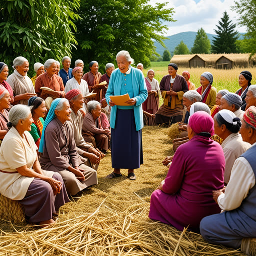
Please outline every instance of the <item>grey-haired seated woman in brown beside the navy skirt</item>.
[[[103, 152], [110, 147], [111, 131], [107, 116], [101, 113], [100, 103], [92, 100], [88, 103], [88, 113], [85, 115], [82, 124], [84, 132], [91, 132], [96, 140], [96, 146]], [[83, 136], [86, 136], [83, 134]]]

